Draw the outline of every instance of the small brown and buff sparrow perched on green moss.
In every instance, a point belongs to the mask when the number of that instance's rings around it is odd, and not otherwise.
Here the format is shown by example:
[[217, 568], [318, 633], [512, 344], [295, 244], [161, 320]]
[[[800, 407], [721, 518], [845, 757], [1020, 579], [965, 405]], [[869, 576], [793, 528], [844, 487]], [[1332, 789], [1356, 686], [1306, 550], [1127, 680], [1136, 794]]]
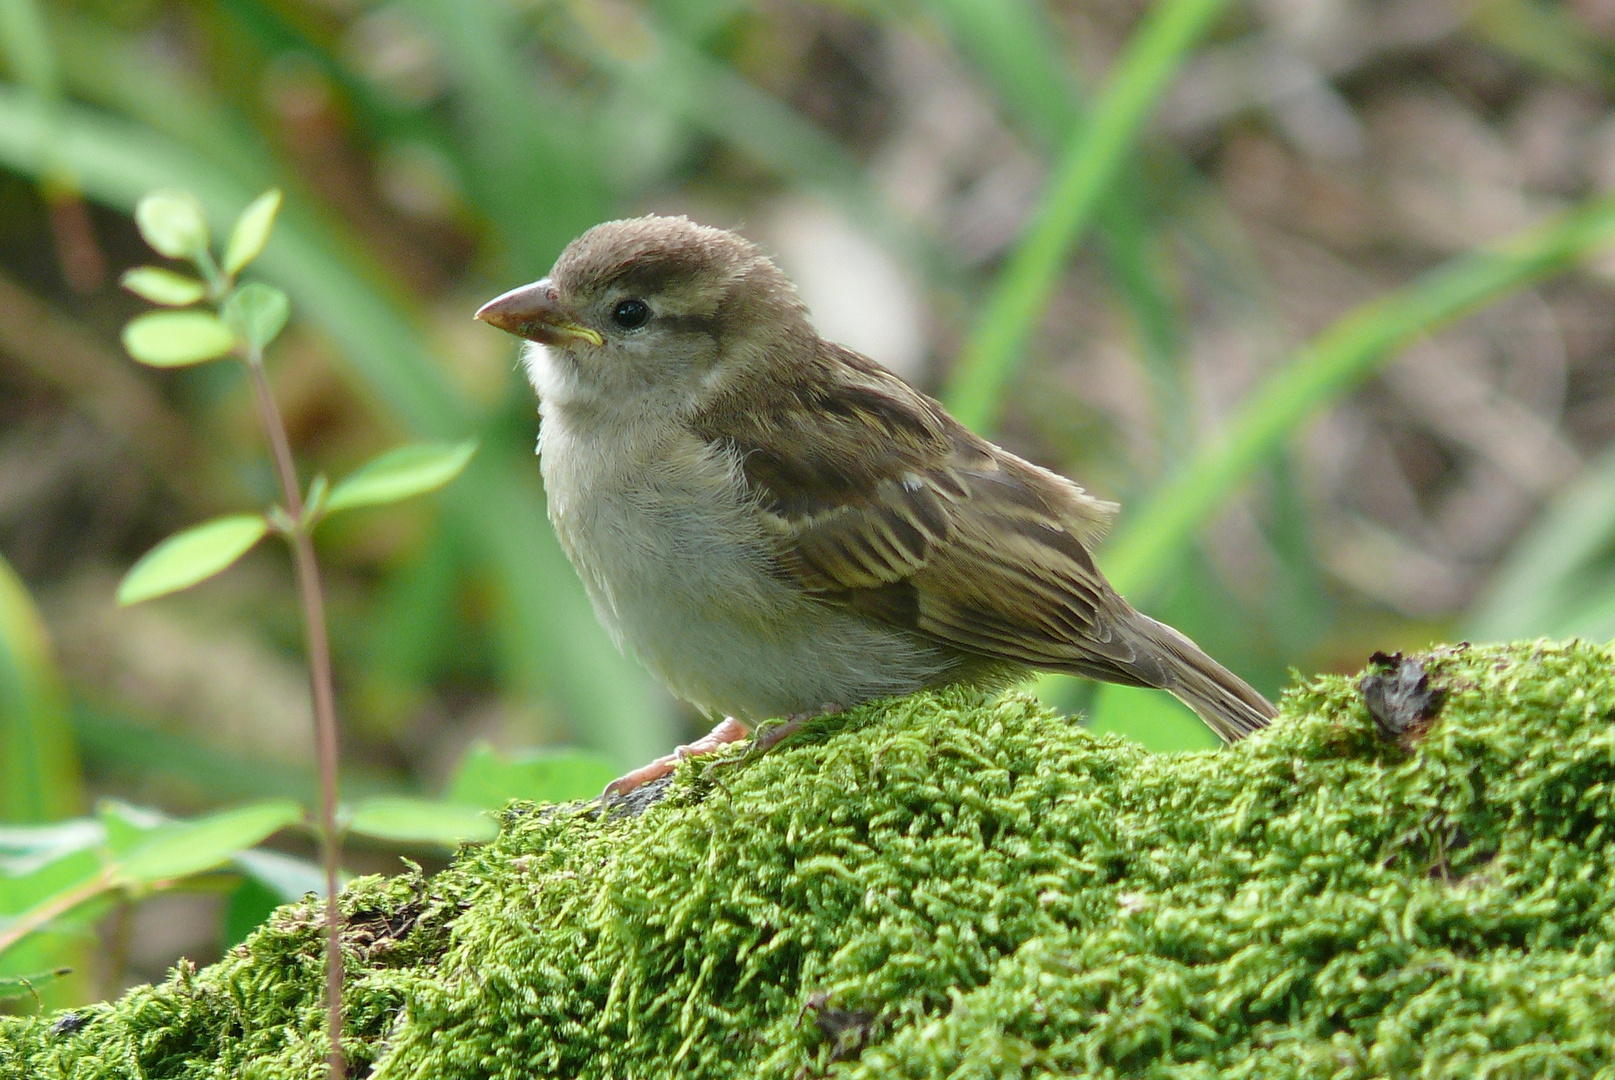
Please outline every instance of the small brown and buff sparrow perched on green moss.
[[1276, 715], [1134, 610], [1093, 549], [1118, 505], [825, 341], [751, 241], [598, 224], [478, 312], [526, 341], [549, 520], [601, 623], [722, 720], [607, 789], [778, 720], [1035, 670], [1160, 688], [1231, 743]]

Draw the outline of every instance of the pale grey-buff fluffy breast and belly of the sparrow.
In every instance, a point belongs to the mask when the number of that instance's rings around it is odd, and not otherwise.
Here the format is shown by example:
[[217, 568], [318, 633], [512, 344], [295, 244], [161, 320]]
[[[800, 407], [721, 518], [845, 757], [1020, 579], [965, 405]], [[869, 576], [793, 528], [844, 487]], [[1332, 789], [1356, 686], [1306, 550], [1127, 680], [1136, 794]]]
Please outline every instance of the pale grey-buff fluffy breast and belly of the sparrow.
[[551, 521], [601, 622], [686, 701], [761, 720], [908, 693], [948, 667], [782, 580], [720, 446], [546, 413], [541, 467]]

